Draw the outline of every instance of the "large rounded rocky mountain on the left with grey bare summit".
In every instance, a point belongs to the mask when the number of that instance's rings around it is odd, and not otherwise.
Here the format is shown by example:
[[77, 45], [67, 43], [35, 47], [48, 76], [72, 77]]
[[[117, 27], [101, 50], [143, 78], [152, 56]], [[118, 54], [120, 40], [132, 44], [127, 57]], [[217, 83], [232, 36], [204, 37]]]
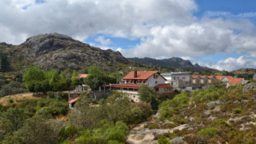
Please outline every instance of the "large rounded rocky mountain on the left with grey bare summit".
[[[35, 65], [43, 70], [66, 68], [79, 70], [97, 65], [102, 68], [112, 63], [128, 63], [119, 52], [102, 50], [58, 33], [36, 35], [21, 45], [0, 43], [0, 52], [7, 53], [16, 66]], [[15, 67], [15, 66], [14, 66]]]

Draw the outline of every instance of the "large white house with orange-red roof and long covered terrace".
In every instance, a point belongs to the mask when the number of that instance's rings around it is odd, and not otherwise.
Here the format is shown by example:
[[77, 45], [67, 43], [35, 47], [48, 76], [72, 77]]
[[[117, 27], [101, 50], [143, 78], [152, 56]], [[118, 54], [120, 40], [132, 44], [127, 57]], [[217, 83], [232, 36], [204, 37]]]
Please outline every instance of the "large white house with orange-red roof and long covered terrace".
[[133, 102], [139, 102], [138, 99], [138, 88], [141, 84], [145, 84], [153, 88], [156, 94], [165, 94], [172, 92], [172, 86], [165, 84], [167, 81], [158, 71], [131, 71], [128, 75], [122, 78], [124, 84], [112, 84], [105, 85], [105, 89], [113, 89], [120, 91], [133, 100]]

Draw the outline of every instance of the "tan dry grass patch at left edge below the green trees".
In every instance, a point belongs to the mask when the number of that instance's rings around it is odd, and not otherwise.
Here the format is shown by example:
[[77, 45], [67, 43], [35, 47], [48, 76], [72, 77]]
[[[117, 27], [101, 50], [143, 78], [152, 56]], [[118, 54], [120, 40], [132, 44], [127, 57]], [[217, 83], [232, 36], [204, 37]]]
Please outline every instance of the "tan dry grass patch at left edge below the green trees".
[[0, 98], [0, 104], [2, 104], [4, 106], [10, 104], [9, 99], [13, 100], [12, 104], [21, 104], [22, 102], [24, 102], [27, 99], [40, 99], [43, 96], [44, 95], [33, 96], [32, 93], [30, 93], [30, 92], [23, 93], [23, 94], [13, 94], [13, 95], [1, 97]]

